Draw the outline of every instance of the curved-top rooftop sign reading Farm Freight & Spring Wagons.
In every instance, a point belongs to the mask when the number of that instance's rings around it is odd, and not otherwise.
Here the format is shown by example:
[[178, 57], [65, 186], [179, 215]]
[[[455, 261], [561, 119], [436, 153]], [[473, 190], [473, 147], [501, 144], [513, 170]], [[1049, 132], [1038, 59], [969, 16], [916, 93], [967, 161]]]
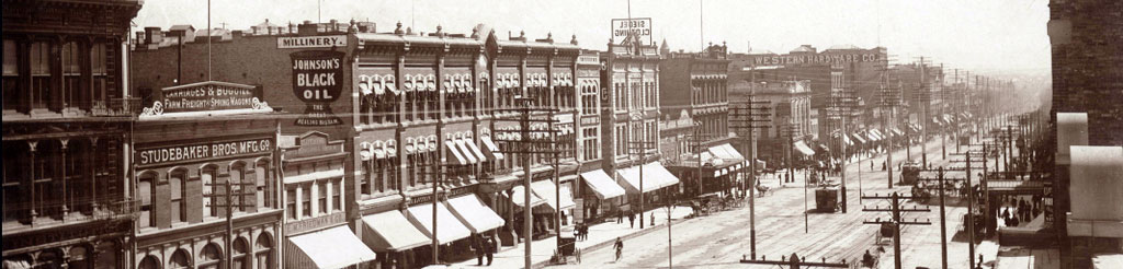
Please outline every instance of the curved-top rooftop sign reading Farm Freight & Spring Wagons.
[[225, 82], [201, 82], [161, 90], [164, 113], [252, 109], [254, 86]]

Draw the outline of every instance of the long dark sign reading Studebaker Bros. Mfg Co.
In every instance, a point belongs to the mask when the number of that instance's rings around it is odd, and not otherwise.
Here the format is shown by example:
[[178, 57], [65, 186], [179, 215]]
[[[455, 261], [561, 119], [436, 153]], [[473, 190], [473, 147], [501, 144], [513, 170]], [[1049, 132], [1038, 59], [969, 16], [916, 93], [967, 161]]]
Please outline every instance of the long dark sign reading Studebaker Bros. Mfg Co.
[[139, 161], [137, 165], [144, 166], [262, 154], [270, 152], [271, 150], [273, 150], [273, 140], [268, 138], [237, 141], [212, 141], [194, 145], [139, 149], [136, 152], [136, 159]]

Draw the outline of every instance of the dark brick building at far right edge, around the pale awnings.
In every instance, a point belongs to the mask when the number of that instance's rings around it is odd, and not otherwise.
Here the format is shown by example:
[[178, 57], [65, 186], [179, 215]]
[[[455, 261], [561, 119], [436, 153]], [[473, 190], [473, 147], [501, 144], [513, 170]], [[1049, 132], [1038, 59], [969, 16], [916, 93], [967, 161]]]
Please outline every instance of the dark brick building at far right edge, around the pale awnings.
[[[1123, 145], [1123, 3], [1117, 1], [1050, 1], [1048, 24], [1052, 44], [1052, 140], [1058, 146], [1078, 145], [1061, 140], [1059, 113], [1085, 112], [1086, 145]], [[1075, 147], [1074, 147], [1075, 148]], [[1061, 149], [1062, 150], [1062, 149]], [[1096, 252], [1121, 252], [1120, 236], [1102, 238], [1074, 233], [1069, 226], [1069, 212], [1075, 208], [1070, 198], [1069, 166], [1067, 156], [1059, 150], [1052, 187], [1054, 223], [1061, 245], [1062, 268], [1087, 268]], [[1063, 150], [1067, 151], [1067, 150]], [[1086, 165], [1086, 164], [1081, 164]], [[1083, 214], [1083, 213], [1081, 213]]]

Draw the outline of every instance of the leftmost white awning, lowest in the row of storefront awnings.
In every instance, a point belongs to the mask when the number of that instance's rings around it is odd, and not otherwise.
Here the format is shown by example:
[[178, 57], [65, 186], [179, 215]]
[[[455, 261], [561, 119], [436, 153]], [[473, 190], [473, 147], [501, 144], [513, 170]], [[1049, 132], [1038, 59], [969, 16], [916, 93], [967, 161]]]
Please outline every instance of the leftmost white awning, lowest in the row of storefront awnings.
[[289, 236], [285, 253], [295, 256], [285, 263], [293, 268], [344, 268], [374, 260], [374, 251], [363, 245], [347, 225]]

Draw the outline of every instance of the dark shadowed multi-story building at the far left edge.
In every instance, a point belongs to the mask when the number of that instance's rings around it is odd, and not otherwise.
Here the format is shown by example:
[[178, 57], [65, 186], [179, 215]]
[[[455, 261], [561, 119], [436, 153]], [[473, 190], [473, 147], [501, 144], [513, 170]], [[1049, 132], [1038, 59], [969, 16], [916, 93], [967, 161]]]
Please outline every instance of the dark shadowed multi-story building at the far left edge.
[[133, 268], [129, 21], [143, 1], [3, 1], [3, 263]]

